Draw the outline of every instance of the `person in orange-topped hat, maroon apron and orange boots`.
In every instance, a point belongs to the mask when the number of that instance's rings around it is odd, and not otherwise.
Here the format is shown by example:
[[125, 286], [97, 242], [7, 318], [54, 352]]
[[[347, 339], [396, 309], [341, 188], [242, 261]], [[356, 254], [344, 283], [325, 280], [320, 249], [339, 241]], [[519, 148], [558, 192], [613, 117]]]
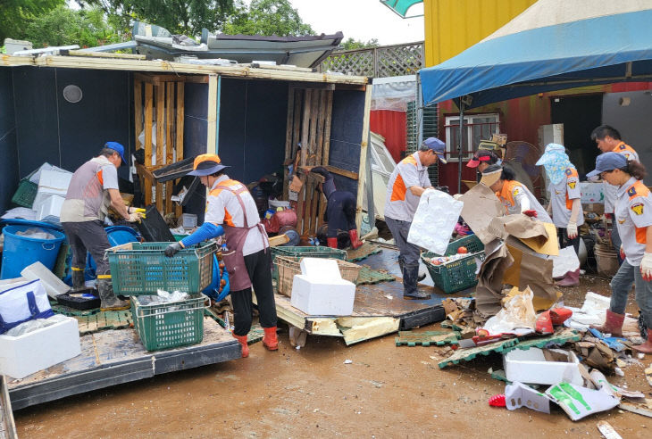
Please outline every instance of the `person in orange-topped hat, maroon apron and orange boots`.
[[231, 302], [235, 328], [233, 336], [242, 345], [242, 356], [249, 355], [247, 334], [251, 329], [251, 290], [258, 302], [260, 324], [264, 330], [263, 344], [270, 351], [279, 349], [276, 337], [276, 304], [272, 290], [272, 259], [267, 233], [258, 217], [254, 198], [247, 186], [230, 179], [224, 173], [216, 154], [198, 155], [188, 175], [199, 177], [208, 187], [204, 224], [179, 243], [170, 244], [165, 255], [173, 257], [182, 248], [206, 239], [226, 236], [222, 257], [229, 272]]

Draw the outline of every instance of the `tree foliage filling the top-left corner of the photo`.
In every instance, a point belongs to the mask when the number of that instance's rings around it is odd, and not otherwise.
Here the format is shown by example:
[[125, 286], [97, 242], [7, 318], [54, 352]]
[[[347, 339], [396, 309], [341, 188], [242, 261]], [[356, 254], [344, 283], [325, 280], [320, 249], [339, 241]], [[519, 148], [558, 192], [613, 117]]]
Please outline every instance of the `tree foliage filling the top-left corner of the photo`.
[[63, 4], [65, 0], [0, 0], [0, 42], [29, 39], [26, 25]]

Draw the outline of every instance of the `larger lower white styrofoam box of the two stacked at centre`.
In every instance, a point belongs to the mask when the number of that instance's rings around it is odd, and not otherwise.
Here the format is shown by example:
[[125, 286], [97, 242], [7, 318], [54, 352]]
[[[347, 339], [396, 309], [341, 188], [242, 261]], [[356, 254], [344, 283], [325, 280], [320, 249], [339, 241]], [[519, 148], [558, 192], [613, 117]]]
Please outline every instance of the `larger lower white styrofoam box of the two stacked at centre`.
[[311, 316], [350, 316], [354, 301], [355, 284], [341, 277], [314, 280], [295, 275], [292, 282], [290, 303]]

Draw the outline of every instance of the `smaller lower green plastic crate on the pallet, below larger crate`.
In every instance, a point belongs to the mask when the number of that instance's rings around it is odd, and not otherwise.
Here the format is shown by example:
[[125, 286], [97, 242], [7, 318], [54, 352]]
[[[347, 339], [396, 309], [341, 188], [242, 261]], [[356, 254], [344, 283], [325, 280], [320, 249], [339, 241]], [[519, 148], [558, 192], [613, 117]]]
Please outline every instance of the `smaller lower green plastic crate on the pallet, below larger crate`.
[[149, 304], [149, 296], [131, 298], [131, 315], [147, 351], [160, 351], [204, 339], [205, 296], [194, 294], [181, 302]]

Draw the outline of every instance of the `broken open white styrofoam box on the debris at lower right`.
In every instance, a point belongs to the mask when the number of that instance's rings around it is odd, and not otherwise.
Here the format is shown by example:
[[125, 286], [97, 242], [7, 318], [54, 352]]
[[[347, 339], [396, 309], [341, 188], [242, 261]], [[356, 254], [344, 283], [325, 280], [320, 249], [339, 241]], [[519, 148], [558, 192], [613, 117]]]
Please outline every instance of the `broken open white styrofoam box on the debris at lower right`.
[[571, 383], [583, 385], [580, 373], [580, 360], [572, 351], [551, 349], [550, 351], [564, 353], [568, 361], [547, 361], [539, 348], [528, 350], [514, 349], [503, 355], [505, 376], [508, 381], [519, 383], [555, 385]]

